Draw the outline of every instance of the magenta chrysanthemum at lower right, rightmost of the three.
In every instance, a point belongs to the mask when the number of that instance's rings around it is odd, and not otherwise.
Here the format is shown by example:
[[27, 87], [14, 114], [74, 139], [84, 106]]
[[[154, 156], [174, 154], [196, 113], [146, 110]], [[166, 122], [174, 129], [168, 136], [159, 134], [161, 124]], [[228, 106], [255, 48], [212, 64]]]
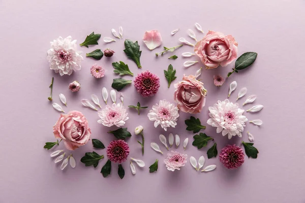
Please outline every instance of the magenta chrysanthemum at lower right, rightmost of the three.
[[224, 147], [219, 155], [219, 160], [226, 168], [235, 169], [245, 161], [243, 158], [245, 154], [240, 147], [235, 145], [227, 145]]

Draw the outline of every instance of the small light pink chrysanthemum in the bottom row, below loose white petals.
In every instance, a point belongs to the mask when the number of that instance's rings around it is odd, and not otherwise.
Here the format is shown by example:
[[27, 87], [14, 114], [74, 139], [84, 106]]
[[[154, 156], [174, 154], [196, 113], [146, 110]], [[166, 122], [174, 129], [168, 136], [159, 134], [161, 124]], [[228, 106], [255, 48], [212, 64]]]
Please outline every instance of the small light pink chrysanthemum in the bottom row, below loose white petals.
[[181, 166], [187, 163], [188, 155], [180, 154], [179, 152], [171, 151], [172, 153], [167, 154], [167, 158], [164, 163], [168, 171], [180, 170]]

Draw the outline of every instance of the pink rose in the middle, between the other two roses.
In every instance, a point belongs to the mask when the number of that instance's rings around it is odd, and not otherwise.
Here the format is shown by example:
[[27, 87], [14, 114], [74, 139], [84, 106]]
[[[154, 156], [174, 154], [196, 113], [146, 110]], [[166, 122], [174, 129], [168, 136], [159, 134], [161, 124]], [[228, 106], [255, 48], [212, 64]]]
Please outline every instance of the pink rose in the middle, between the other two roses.
[[195, 76], [184, 75], [182, 81], [174, 84], [174, 87], [174, 100], [181, 111], [196, 114], [202, 110], [205, 105], [206, 89]]

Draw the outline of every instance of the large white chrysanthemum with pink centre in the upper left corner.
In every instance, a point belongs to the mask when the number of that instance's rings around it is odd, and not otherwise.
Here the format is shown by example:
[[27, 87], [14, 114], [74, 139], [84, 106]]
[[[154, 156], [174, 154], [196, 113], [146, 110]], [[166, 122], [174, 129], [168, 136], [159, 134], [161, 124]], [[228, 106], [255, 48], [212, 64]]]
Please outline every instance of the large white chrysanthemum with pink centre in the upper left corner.
[[65, 39], [59, 37], [51, 43], [51, 49], [48, 50], [48, 61], [50, 69], [60, 76], [71, 75], [73, 70], [80, 70], [80, 61], [83, 60], [82, 51], [77, 51], [76, 40], [72, 41], [69, 36]]

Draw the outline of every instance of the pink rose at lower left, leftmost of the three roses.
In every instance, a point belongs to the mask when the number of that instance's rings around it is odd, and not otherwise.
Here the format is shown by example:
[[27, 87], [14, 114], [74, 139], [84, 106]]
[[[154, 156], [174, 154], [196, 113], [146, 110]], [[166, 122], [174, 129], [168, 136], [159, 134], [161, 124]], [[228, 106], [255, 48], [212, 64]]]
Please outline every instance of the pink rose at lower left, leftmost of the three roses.
[[70, 111], [60, 115], [53, 126], [53, 133], [55, 138], [63, 139], [68, 150], [75, 150], [89, 141], [91, 130], [82, 113]]

